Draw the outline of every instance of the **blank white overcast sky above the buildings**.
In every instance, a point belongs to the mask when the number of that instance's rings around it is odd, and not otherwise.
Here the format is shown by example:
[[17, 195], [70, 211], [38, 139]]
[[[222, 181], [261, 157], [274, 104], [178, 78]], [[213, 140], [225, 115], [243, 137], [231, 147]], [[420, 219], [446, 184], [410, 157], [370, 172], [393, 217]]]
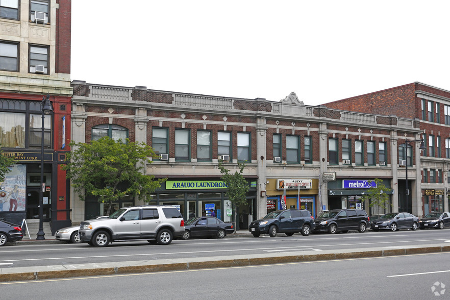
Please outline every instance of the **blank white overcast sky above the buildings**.
[[319, 105], [450, 90], [450, 1], [72, 0], [71, 80]]

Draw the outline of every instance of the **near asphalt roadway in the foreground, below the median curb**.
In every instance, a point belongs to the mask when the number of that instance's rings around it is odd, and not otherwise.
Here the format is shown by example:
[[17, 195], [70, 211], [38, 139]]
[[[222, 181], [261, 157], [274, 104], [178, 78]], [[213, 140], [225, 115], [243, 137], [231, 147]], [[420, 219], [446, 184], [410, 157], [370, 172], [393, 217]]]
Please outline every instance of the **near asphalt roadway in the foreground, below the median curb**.
[[48, 300], [444, 299], [450, 294], [448, 261], [447, 252], [6, 282], [0, 294]]

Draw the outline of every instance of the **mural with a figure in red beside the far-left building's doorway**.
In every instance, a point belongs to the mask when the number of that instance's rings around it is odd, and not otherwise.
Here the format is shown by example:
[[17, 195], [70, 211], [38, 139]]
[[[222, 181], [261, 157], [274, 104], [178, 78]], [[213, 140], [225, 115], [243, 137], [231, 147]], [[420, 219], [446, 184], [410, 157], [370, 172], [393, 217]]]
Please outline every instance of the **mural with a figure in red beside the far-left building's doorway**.
[[5, 181], [0, 182], [0, 212], [24, 211], [27, 166], [12, 165]]

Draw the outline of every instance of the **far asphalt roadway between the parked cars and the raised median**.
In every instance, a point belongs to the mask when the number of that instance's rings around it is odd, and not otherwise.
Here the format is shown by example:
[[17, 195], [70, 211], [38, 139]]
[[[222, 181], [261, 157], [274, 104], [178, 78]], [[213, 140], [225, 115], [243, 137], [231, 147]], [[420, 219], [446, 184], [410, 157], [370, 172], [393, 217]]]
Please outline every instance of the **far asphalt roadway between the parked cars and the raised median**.
[[[447, 242], [446, 242], [447, 241]], [[198, 258], [321, 251], [333, 249], [402, 248], [410, 245], [445, 244], [450, 230], [417, 230], [398, 232], [351, 232], [307, 237], [279, 234], [275, 238], [252, 236], [224, 239], [174, 240], [170, 245], [151, 245], [147, 241], [118, 242], [105, 248], [87, 244], [11, 244], [0, 248], [0, 267], [28, 267], [59, 264], [84, 264], [134, 260]]]

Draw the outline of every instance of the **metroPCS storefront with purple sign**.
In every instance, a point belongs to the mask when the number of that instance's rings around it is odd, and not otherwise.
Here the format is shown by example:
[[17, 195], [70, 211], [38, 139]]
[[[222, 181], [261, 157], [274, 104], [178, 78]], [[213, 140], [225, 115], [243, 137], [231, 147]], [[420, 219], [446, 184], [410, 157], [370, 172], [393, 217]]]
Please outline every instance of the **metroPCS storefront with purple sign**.
[[[374, 179], [337, 179], [336, 181], [328, 182], [328, 207], [324, 210], [333, 209], [363, 209], [369, 215], [384, 214], [391, 211], [391, 206], [387, 209], [373, 206], [370, 208], [370, 203], [362, 201], [362, 196], [365, 191], [371, 187], [376, 187]], [[390, 180], [383, 180], [384, 185], [390, 188]], [[391, 190], [389, 194], [389, 203], [392, 203]]]

